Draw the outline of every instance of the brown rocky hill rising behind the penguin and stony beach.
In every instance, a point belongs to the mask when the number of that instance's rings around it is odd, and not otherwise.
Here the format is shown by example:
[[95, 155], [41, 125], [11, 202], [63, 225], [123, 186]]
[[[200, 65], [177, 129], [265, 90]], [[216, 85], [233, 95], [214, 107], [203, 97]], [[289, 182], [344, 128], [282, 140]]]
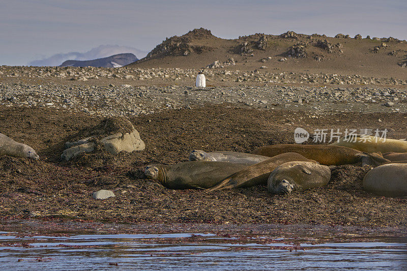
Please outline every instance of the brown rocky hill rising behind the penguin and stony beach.
[[133, 68], [330, 73], [405, 79], [407, 42], [338, 34], [254, 34], [221, 39], [199, 28], [167, 38]]

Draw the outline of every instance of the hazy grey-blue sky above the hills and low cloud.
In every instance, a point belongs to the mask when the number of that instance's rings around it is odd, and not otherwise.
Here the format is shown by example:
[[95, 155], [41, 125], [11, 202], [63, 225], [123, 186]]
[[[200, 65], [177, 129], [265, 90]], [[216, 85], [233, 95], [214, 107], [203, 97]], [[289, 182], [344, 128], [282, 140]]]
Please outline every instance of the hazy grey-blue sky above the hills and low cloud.
[[254, 33], [361, 34], [407, 39], [407, 0], [0, 0], [0, 65], [112, 44], [150, 51], [205, 27]]

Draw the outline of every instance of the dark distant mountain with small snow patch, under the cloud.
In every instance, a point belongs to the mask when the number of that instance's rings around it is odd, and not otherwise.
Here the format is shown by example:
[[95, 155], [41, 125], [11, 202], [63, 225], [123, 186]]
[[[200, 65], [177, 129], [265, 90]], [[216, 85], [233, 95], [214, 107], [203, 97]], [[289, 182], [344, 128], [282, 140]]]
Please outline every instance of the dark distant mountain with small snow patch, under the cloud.
[[60, 67], [119, 68], [137, 60], [137, 57], [132, 53], [121, 53], [88, 61], [67, 60]]

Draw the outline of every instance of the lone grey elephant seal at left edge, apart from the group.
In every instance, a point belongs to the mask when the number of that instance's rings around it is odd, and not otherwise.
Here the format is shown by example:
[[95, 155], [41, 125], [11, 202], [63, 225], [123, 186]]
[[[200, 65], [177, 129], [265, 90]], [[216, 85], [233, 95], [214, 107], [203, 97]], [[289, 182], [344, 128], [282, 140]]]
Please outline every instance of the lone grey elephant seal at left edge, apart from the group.
[[0, 155], [27, 157], [34, 160], [40, 158], [32, 147], [18, 143], [2, 133], [0, 133]]

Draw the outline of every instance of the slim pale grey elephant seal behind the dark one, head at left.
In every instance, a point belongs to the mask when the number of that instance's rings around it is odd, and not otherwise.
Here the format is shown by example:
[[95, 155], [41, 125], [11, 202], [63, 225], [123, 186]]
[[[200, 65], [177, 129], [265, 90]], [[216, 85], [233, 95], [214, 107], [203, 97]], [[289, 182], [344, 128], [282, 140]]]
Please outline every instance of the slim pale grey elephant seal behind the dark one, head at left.
[[218, 162], [231, 162], [231, 163], [247, 163], [256, 164], [263, 162], [270, 157], [245, 154], [245, 153], [235, 153], [235, 152], [211, 152], [206, 153], [203, 150], [192, 150], [189, 154], [189, 161], [218, 161]]

